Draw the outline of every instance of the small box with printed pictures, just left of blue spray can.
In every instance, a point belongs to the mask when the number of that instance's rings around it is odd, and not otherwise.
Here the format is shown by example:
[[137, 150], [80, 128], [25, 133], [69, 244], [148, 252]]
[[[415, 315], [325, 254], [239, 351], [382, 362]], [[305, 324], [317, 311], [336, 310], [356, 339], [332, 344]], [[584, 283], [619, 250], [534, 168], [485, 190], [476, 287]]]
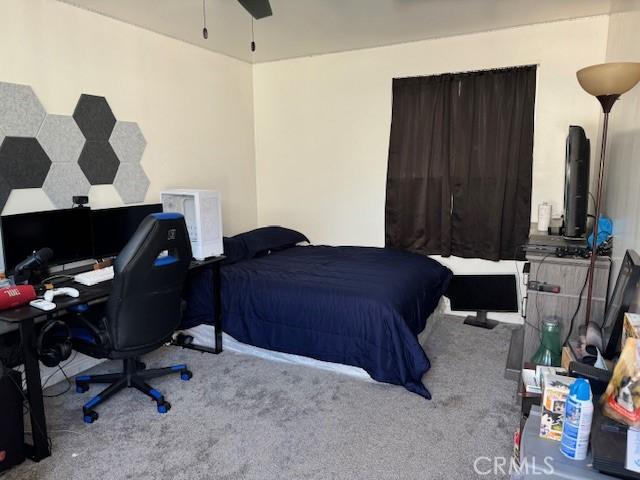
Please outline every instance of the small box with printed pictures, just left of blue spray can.
[[564, 404], [575, 378], [547, 373], [542, 377], [542, 415], [540, 436], [559, 442], [562, 439]]

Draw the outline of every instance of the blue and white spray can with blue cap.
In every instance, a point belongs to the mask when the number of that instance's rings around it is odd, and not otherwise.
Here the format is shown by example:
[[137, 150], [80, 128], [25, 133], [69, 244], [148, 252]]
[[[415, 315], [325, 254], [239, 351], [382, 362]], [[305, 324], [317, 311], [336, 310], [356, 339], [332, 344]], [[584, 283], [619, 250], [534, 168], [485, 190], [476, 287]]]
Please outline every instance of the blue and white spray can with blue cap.
[[560, 451], [573, 460], [584, 460], [589, 449], [593, 401], [589, 381], [578, 378], [569, 389], [565, 403]]

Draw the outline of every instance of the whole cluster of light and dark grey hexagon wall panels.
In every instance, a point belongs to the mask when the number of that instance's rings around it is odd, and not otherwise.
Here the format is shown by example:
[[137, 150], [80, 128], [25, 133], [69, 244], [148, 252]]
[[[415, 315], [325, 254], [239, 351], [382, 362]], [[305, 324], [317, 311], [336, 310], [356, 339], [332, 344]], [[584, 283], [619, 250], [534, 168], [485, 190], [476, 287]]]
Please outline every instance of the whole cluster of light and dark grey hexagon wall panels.
[[116, 121], [104, 97], [82, 94], [72, 116], [47, 115], [31, 87], [0, 82], [0, 212], [12, 190], [28, 188], [42, 188], [57, 208], [92, 185], [142, 202], [146, 145], [138, 124]]

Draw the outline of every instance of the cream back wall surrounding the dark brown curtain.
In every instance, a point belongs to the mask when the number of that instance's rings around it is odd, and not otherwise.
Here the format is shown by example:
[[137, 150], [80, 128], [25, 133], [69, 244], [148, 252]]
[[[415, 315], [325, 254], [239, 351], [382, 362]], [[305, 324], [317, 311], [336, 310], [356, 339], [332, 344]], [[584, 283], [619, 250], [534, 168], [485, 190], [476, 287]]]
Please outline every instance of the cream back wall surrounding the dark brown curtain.
[[256, 65], [258, 223], [383, 245], [392, 79], [525, 64], [539, 65], [532, 212], [559, 213], [568, 127], [598, 131], [575, 72], [604, 61], [607, 29], [601, 16]]

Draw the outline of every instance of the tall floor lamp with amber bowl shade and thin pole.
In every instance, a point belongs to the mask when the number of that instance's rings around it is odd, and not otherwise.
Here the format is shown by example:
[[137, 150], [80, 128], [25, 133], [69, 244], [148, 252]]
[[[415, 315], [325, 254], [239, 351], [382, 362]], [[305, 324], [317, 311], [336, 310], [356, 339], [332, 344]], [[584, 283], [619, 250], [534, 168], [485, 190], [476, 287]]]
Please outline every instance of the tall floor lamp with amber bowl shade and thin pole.
[[620, 95], [631, 90], [640, 81], [640, 63], [602, 63], [578, 70], [578, 82], [589, 94], [598, 99], [604, 112], [602, 126], [602, 144], [600, 146], [600, 169], [598, 170], [598, 190], [596, 191], [596, 216], [593, 224], [593, 245], [591, 245], [591, 263], [589, 264], [589, 289], [587, 290], [587, 314], [585, 325], [591, 320], [591, 300], [593, 296], [593, 277], [598, 257], [598, 221], [602, 204], [602, 184], [604, 161], [607, 151], [607, 130], [609, 112]]

